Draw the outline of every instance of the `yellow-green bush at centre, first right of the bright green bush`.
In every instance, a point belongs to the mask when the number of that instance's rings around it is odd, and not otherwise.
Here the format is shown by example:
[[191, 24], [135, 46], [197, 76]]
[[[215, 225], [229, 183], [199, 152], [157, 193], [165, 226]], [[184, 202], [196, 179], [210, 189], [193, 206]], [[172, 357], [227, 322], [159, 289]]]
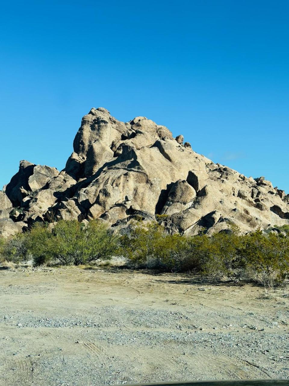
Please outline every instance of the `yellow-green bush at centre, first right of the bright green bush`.
[[168, 235], [156, 222], [135, 222], [121, 237], [121, 253], [133, 267], [176, 270], [186, 247], [185, 237]]

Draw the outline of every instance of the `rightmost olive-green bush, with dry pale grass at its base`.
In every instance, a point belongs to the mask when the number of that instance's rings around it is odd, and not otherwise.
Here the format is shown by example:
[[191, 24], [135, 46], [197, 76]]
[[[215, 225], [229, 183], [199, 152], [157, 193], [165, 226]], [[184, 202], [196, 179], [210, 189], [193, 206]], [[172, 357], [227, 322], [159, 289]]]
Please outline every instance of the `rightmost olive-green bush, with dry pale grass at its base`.
[[260, 230], [244, 236], [242, 261], [265, 287], [282, 283], [289, 274], [289, 238]]

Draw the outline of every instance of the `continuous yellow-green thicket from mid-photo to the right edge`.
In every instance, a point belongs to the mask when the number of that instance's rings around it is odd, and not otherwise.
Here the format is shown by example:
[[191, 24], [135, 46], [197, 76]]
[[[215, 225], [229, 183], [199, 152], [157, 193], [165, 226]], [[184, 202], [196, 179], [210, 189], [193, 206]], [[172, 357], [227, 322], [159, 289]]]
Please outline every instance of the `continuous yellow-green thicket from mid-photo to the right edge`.
[[[286, 226], [283, 231], [285, 231]], [[128, 266], [249, 279], [273, 287], [289, 276], [289, 237], [260, 230], [239, 235], [229, 229], [208, 237], [170, 235], [158, 223], [135, 223], [121, 237]]]

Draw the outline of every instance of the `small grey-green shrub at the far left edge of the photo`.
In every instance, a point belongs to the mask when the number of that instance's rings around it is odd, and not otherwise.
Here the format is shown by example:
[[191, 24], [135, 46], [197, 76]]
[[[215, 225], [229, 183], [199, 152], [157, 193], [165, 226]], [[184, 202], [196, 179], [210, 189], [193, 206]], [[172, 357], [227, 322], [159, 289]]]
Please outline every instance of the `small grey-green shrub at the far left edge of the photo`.
[[27, 260], [29, 256], [25, 245], [25, 234], [20, 233], [8, 239], [0, 240], [0, 254], [2, 260], [13, 263]]

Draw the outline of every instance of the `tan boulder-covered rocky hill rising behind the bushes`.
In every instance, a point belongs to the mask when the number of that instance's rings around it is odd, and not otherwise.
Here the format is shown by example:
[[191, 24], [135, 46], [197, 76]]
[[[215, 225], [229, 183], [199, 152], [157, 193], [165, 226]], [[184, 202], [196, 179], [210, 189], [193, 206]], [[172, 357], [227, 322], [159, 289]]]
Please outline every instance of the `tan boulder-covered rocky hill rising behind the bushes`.
[[145, 117], [123, 123], [92, 108], [62, 171], [20, 161], [0, 191], [0, 234], [61, 218], [99, 218], [114, 229], [157, 219], [187, 235], [220, 232], [229, 222], [243, 233], [289, 224], [284, 191], [213, 163], [183, 140]]

